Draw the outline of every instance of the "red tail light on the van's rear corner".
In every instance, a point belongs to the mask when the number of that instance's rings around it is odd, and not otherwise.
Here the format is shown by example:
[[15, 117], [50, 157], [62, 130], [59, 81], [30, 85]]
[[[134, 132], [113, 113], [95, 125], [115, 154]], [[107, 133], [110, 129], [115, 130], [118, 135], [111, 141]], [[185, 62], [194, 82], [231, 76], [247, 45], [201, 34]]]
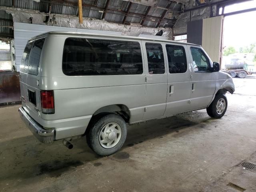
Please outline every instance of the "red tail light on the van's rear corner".
[[54, 114], [54, 93], [53, 90], [42, 91], [41, 95], [41, 110], [44, 114]]

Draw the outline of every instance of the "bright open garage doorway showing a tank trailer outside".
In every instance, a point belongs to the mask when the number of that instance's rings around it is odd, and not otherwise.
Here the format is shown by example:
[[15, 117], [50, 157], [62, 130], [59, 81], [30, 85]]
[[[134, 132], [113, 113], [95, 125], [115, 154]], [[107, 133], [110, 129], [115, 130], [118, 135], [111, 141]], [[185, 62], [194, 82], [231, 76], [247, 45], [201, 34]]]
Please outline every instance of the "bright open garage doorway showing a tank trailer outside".
[[219, 10], [224, 15], [221, 68], [233, 78], [256, 74], [255, 8], [252, 0]]

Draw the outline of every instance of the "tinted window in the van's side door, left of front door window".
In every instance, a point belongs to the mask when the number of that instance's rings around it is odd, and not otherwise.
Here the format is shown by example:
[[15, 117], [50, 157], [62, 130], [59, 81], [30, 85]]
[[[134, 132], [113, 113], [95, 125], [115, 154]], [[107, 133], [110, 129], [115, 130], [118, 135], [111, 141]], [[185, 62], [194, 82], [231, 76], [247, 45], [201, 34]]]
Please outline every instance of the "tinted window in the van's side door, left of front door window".
[[187, 59], [183, 46], [166, 45], [168, 65], [170, 73], [185, 73], [187, 71]]

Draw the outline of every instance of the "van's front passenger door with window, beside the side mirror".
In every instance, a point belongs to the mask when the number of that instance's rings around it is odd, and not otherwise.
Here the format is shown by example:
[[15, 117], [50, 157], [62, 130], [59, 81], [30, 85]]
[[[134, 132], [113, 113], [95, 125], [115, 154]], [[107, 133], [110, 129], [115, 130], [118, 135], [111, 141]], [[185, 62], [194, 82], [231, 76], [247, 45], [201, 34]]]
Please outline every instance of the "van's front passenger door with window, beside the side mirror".
[[192, 90], [190, 109], [205, 108], [216, 88], [216, 73], [210, 71], [212, 61], [201, 47], [188, 46], [191, 52]]

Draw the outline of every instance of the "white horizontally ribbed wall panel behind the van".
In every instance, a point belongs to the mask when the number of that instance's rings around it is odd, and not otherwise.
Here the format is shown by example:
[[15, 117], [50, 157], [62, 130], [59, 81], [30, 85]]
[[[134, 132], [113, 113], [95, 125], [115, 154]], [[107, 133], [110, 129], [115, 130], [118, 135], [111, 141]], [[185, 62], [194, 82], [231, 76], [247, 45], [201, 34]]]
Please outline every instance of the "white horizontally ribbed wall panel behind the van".
[[104, 34], [116, 34], [121, 35], [120, 32], [109, 32], [99, 30], [87, 30], [68, 27], [46, 26], [27, 23], [14, 22], [14, 46], [15, 46], [15, 58], [16, 58], [16, 70], [20, 71], [20, 62], [24, 48], [28, 39], [49, 31], [68, 31], [68, 32], [92, 32], [92, 33], [104, 33]]

